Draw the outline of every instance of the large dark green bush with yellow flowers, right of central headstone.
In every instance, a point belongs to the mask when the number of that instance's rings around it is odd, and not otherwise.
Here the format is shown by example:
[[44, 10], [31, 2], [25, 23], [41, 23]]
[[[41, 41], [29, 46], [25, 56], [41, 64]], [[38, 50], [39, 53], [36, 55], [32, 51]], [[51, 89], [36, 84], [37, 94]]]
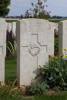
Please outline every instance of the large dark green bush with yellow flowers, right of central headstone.
[[50, 88], [59, 86], [67, 90], [67, 60], [62, 57], [50, 59], [49, 63], [40, 69], [39, 76]]

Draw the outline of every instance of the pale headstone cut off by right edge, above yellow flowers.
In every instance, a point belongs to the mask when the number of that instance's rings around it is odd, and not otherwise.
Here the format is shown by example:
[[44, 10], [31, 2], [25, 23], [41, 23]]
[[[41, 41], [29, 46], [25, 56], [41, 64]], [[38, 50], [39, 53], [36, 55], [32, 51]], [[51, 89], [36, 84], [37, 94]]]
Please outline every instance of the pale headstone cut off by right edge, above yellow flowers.
[[59, 22], [59, 55], [67, 58], [67, 20]]

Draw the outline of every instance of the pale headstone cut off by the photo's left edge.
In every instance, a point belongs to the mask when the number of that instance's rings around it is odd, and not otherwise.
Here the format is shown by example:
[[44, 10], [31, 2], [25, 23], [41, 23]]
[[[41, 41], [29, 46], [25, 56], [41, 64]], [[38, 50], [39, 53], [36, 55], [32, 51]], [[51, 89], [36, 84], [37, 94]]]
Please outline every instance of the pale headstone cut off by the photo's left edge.
[[6, 22], [0, 19], [0, 83], [5, 82]]

